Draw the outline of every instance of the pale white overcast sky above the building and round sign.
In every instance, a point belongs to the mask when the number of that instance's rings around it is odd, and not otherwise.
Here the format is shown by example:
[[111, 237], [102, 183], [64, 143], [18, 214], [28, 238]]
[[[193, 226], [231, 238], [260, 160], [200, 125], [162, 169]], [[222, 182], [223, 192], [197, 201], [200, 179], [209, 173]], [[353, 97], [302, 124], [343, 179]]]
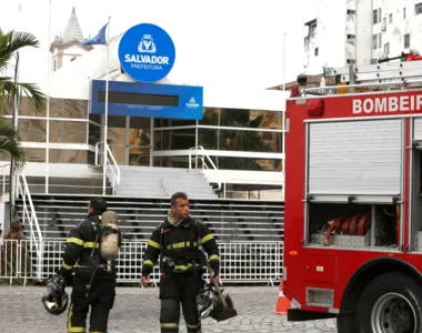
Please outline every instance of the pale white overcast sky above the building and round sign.
[[109, 17], [110, 38], [139, 23], [154, 23], [175, 44], [169, 79], [238, 89], [294, 80], [303, 71], [304, 22], [315, 17], [314, 0], [51, 0], [51, 7], [50, 0], [3, 2], [0, 28], [28, 31], [40, 40], [39, 49], [20, 54], [20, 81], [41, 87], [48, 77], [49, 42], [63, 32], [73, 7], [86, 38], [96, 36]]

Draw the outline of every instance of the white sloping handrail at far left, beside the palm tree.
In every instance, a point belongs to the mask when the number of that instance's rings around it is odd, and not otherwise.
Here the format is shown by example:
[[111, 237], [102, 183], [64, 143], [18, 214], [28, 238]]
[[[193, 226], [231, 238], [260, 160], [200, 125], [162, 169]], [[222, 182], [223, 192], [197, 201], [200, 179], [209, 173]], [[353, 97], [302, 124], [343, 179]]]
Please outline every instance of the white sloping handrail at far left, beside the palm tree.
[[[23, 225], [26, 225], [24, 219], [26, 218], [28, 219], [28, 224], [29, 224], [29, 228], [31, 229], [31, 241], [34, 241], [36, 243], [36, 251], [37, 251], [37, 256], [38, 256], [37, 274], [38, 274], [38, 278], [40, 278], [42, 273], [41, 265], [42, 265], [42, 256], [43, 256], [42, 255], [42, 252], [43, 252], [42, 239], [43, 238], [42, 238], [40, 224], [38, 222], [37, 211], [33, 206], [31, 193], [29, 192], [29, 186], [28, 186], [28, 182], [27, 182], [27, 178], [24, 176], [24, 173], [22, 171], [17, 172], [14, 176], [16, 176], [17, 190], [18, 190], [16, 192], [16, 196], [18, 198], [19, 193], [22, 195], [22, 203], [23, 203], [23, 216], [22, 216], [23, 221], [22, 222], [23, 222]], [[27, 200], [29, 203], [29, 210], [28, 210]], [[33, 231], [33, 225], [36, 228], [37, 233]]]

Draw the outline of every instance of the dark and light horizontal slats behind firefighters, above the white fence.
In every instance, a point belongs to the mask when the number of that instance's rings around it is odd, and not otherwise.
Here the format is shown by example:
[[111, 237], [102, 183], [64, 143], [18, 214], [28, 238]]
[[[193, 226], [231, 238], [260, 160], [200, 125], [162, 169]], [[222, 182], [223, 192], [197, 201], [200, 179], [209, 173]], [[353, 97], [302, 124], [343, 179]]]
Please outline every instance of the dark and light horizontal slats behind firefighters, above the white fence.
[[[72, 226], [87, 216], [89, 195], [32, 194], [40, 229], [46, 240], [66, 240]], [[109, 210], [119, 214], [123, 239], [148, 240], [163, 222], [169, 199], [105, 196]], [[282, 241], [284, 204], [274, 201], [192, 199], [191, 215], [204, 222], [217, 240]], [[22, 214], [22, 201], [18, 201]], [[29, 232], [29, 230], [26, 230]], [[27, 234], [29, 236], [29, 234]]]

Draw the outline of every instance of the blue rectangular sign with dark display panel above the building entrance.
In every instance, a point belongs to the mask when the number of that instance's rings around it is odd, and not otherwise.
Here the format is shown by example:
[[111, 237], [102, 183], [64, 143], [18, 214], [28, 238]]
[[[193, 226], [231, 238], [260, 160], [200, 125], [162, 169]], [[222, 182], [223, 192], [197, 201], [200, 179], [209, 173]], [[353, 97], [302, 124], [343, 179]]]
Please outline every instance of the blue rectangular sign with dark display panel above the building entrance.
[[[109, 81], [108, 113], [202, 120], [203, 88], [192, 85]], [[90, 113], [105, 111], [105, 81], [92, 80]]]

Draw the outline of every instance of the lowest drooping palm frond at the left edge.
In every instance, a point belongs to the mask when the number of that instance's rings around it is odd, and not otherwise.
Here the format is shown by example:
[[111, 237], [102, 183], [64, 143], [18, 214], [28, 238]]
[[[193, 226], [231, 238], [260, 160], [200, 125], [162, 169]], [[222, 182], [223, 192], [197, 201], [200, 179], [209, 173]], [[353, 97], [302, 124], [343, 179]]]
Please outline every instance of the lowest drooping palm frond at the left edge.
[[4, 118], [0, 118], [0, 154], [10, 155], [17, 169], [24, 165], [24, 151], [21, 148], [19, 131]]

